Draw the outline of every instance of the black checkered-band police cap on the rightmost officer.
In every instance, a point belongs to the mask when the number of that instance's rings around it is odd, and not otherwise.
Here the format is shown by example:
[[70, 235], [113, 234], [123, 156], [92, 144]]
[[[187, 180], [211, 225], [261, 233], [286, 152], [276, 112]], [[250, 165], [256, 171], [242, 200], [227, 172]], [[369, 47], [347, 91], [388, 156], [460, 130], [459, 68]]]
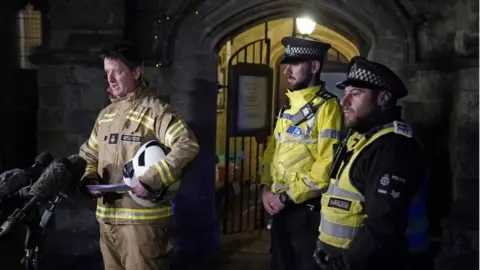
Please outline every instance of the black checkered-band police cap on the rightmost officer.
[[408, 94], [402, 80], [390, 68], [361, 56], [355, 56], [350, 60], [347, 79], [337, 83], [339, 89], [347, 86], [385, 90], [396, 99]]

